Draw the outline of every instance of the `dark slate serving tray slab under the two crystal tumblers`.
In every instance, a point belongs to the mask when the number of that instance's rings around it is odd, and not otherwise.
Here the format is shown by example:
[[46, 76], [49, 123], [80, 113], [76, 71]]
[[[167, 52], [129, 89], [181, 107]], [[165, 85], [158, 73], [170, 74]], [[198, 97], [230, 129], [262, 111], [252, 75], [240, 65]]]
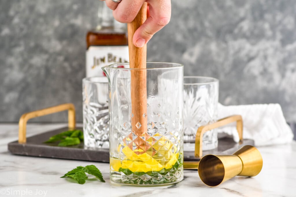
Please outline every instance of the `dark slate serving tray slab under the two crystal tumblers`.
[[[81, 131], [82, 128], [77, 128]], [[71, 147], [60, 147], [56, 145], [44, 144], [42, 142], [49, 139], [49, 137], [67, 131], [68, 128], [60, 128], [38, 135], [28, 137], [27, 143], [19, 144], [18, 141], [13, 141], [8, 144], [8, 150], [12, 154], [34, 156], [34, 157], [49, 157], [58, 159], [74, 159], [85, 160], [94, 162], [109, 162], [109, 149], [91, 149], [84, 148], [84, 144], [81, 143]], [[244, 139], [242, 143], [236, 143], [230, 138], [222, 138], [218, 141], [218, 148], [204, 151], [206, 154], [232, 154], [244, 145], [254, 146], [254, 141], [250, 139]], [[184, 152], [184, 161], [199, 161], [200, 158], [194, 157], [194, 151]]]

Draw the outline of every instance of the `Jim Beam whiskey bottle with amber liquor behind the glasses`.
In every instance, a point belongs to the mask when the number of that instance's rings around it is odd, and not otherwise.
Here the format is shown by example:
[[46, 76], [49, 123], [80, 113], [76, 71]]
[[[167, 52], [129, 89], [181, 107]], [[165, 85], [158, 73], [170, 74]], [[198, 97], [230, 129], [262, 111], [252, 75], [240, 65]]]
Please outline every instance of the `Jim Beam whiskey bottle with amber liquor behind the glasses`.
[[98, 17], [99, 25], [86, 35], [86, 77], [104, 76], [103, 66], [129, 61], [126, 24], [117, 22], [105, 4]]

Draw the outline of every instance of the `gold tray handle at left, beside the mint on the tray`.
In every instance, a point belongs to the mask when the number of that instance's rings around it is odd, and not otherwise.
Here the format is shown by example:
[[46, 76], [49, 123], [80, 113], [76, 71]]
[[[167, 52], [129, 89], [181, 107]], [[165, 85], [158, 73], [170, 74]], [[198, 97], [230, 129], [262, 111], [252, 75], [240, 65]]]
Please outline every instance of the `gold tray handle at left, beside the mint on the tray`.
[[54, 107], [44, 108], [41, 110], [32, 111], [29, 113], [25, 113], [20, 117], [19, 121], [19, 140], [20, 144], [26, 143], [26, 126], [28, 120], [32, 118], [36, 118], [39, 116], [44, 116], [52, 113], [57, 113], [61, 111], [68, 110], [68, 126], [69, 129], [74, 129], [76, 125], [75, 121], [75, 106], [72, 103], [65, 103], [62, 105], [57, 105]]

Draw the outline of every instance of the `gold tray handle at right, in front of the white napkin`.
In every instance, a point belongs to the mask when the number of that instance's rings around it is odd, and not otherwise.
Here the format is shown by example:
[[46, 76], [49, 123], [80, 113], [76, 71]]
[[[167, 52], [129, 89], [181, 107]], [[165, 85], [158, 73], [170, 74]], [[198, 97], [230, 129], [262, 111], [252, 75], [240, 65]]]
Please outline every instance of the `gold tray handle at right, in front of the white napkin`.
[[200, 126], [197, 129], [196, 137], [195, 137], [195, 150], [194, 156], [195, 157], [202, 157], [202, 136], [205, 132], [210, 131], [214, 128], [218, 128], [224, 126], [226, 124], [237, 122], [237, 132], [239, 133], [239, 141], [242, 142], [242, 116], [241, 115], [232, 115], [226, 118], [222, 118], [213, 124], [208, 124], [204, 126]]

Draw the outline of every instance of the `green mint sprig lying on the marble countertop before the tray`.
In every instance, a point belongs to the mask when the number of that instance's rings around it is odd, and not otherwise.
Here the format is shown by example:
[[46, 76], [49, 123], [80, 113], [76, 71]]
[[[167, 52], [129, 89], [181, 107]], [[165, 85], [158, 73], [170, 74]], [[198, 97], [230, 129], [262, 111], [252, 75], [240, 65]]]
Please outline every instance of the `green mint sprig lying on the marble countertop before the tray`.
[[101, 171], [95, 165], [87, 165], [86, 167], [78, 166], [78, 167], [74, 168], [73, 170], [70, 170], [69, 172], [67, 172], [61, 178], [70, 177], [70, 178], [75, 179], [79, 184], [84, 184], [85, 180], [88, 179], [88, 177], [85, 173], [88, 173], [90, 175], [94, 175], [101, 182], [105, 183], [105, 180], [103, 178]]

